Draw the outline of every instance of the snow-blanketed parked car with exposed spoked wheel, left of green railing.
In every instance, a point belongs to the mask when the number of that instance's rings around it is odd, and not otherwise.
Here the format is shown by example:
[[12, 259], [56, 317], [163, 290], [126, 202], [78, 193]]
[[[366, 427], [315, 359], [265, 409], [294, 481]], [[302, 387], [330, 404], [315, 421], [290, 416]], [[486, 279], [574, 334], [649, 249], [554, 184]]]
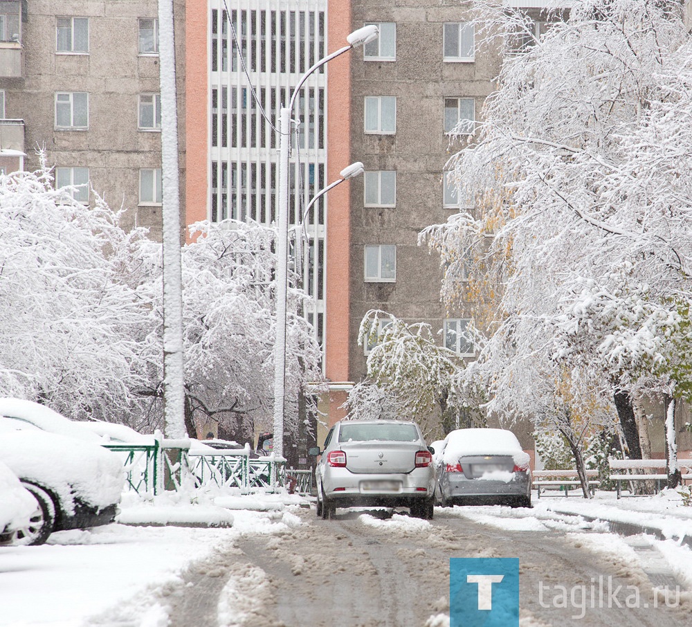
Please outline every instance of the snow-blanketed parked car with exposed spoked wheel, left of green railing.
[[18, 541], [36, 545], [53, 531], [112, 523], [125, 484], [118, 456], [99, 444], [0, 417], [0, 462], [39, 505]]

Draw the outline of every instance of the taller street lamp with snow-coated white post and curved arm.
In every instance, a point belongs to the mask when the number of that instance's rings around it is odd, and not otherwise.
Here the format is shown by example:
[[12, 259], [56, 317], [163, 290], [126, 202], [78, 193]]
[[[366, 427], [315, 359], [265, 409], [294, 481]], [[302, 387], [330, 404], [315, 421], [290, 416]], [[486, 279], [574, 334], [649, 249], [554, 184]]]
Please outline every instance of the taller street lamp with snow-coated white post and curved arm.
[[379, 35], [374, 24], [364, 26], [351, 33], [346, 41], [348, 46], [339, 48], [319, 60], [302, 75], [293, 90], [288, 107], [282, 107], [279, 115], [279, 193], [277, 197], [278, 240], [276, 271], [276, 340], [274, 345], [274, 429], [273, 451], [282, 457], [284, 454], [284, 390], [286, 376], [286, 293], [288, 283], [288, 239], [289, 239], [289, 155], [291, 150], [291, 111], [300, 88], [309, 75], [332, 59], [343, 55], [356, 46], [364, 46]]

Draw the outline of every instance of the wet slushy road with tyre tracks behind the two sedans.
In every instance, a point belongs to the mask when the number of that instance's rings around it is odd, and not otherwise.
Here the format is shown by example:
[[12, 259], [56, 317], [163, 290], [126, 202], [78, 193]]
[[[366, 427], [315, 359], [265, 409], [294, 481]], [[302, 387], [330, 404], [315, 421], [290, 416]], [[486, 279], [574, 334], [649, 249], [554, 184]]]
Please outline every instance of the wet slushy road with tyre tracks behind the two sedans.
[[689, 626], [689, 594], [675, 608], [663, 598], [654, 608], [652, 586], [678, 582], [641, 536], [626, 542], [574, 517], [499, 507], [437, 508], [432, 522], [385, 511], [343, 510], [331, 521], [313, 509], [295, 513], [303, 525], [244, 535], [188, 570], [172, 626], [443, 626], [450, 557], [520, 558], [521, 627]]

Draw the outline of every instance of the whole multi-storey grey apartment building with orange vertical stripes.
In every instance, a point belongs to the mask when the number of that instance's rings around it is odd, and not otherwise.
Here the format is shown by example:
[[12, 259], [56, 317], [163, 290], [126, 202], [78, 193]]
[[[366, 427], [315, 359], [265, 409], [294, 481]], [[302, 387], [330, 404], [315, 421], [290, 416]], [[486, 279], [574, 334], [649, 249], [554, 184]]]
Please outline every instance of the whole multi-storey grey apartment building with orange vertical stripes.
[[[289, 221], [304, 224], [295, 252], [333, 421], [365, 374], [365, 311], [464, 325], [439, 303], [438, 260], [417, 235], [458, 207], [444, 184], [448, 132], [459, 120], [473, 130], [498, 57], [477, 49], [456, 0], [176, 0], [174, 14], [185, 224], [275, 221], [281, 105], [349, 33], [380, 26], [365, 49], [313, 72], [293, 110]], [[84, 202], [96, 192], [161, 237], [158, 81], [156, 0], [0, 0], [0, 167], [34, 169], [40, 149], [56, 185], [76, 185]], [[303, 215], [354, 161], [364, 176]]]

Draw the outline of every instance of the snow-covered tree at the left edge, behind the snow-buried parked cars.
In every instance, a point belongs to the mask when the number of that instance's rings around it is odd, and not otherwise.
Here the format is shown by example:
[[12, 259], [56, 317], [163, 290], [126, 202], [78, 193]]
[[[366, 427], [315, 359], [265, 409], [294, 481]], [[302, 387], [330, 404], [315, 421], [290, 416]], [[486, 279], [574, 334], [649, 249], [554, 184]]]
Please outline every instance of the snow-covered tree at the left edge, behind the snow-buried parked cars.
[[144, 381], [140, 299], [123, 273], [143, 232], [71, 192], [45, 169], [0, 175], [0, 394], [122, 421]]

